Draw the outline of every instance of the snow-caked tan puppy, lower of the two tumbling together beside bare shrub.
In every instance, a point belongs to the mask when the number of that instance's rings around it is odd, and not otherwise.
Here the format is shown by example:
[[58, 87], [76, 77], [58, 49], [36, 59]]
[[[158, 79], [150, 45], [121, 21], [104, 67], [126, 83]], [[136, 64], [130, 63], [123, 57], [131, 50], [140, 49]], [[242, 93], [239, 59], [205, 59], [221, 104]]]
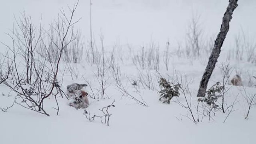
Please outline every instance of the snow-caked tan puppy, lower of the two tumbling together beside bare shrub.
[[76, 109], [87, 108], [89, 105], [89, 100], [87, 98], [88, 93], [82, 90], [76, 90], [74, 96], [71, 97], [68, 105]]

